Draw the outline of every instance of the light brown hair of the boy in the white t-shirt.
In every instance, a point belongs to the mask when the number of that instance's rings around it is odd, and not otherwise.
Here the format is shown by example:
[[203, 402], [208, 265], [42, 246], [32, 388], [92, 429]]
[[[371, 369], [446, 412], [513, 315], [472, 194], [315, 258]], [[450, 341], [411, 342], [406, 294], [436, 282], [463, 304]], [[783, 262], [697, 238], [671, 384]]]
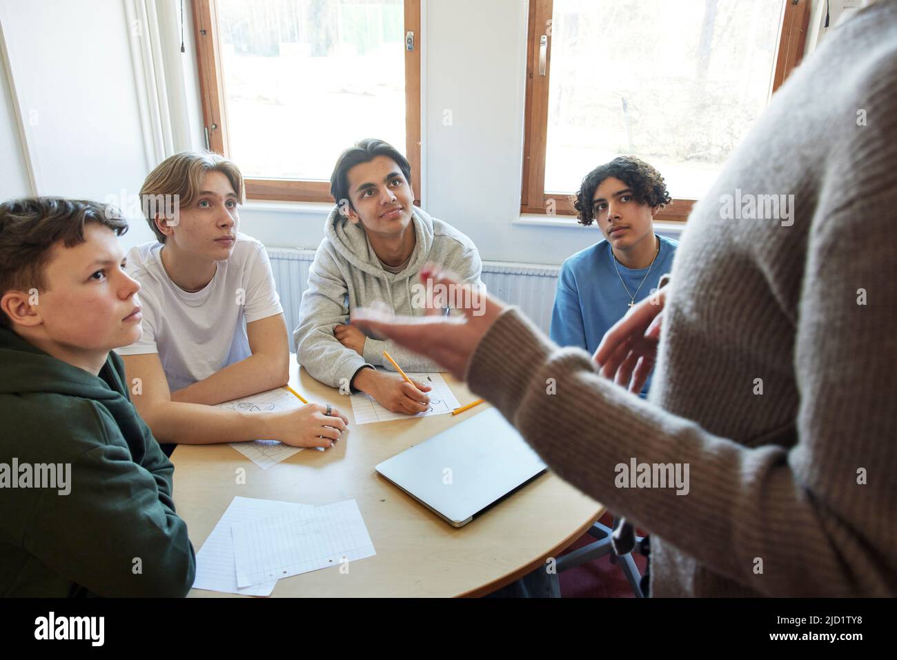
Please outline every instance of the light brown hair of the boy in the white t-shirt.
[[[176, 153], [161, 161], [144, 180], [144, 186], [140, 188], [141, 208], [144, 210], [144, 217], [149, 222], [152, 233], [156, 235], [160, 243], [165, 242], [165, 234], [156, 225], [155, 213], [151, 213], [153, 209], [159, 208], [157, 205], [159, 198], [177, 199], [179, 206], [193, 204], [202, 189], [205, 174], [210, 171], [221, 172], [227, 177], [233, 191], [237, 194], [239, 204], [243, 204], [246, 198], [243, 175], [233, 161], [227, 160], [218, 153]], [[166, 203], [162, 208], [170, 208], [170, 204]]]

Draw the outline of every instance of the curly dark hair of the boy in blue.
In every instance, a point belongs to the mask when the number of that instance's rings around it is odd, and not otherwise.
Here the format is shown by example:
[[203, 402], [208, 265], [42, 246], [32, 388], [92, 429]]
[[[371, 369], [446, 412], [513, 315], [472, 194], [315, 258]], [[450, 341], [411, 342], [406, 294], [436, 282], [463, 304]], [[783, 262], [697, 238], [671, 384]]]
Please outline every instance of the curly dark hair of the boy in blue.
[[595, 196], [595, 189], [601, 185], [601, 182], [610, 177], [619, 178], [630, 187], [632, 198], [637, 202], [661, 208], [667, 204], [673, 204], [673, 198], [666, 190], [664, 178], [660, 176], [657, 169], [635, 156], [618, 156], [613, 161], [599, 165], [590, 171], [582, 179], [579, 192], [576, 195], [571, 195], [579, 224], [588, 226], [595, 221], [592, 197]]

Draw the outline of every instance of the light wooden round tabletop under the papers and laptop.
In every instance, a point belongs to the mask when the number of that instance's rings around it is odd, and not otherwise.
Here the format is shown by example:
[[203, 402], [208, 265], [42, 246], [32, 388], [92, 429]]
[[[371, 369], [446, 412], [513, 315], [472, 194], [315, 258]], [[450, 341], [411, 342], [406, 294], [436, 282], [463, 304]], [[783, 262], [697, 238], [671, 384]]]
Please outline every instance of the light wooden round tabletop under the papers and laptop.
[[[476, 397], [443, 374], [461, 405]], [[485, 595], [557, 557], [605, 508], [555, 474], [544, 473], [464, 527], [448, 525], [381, 477], [374, 465], [483, 412], [353, 424], [348, 396], [318, 383], [292, 356], [290, 385], [313, 403], [329, 403], [349, 418], [349, 431], [321, 452], [305, 449], [262, 470], [228, 446], [179, 445], [174, 499], [196, 551], [236, 496], [322, 505], [355, 499], [377, 554], [338, 567], [286, 577], [274, 596]], [[483, 438], [483, 442], [488, 442]], [[245, 483], [238, 483], [238, 468]], [[227, 596], [193, 589], [190, 596]]]

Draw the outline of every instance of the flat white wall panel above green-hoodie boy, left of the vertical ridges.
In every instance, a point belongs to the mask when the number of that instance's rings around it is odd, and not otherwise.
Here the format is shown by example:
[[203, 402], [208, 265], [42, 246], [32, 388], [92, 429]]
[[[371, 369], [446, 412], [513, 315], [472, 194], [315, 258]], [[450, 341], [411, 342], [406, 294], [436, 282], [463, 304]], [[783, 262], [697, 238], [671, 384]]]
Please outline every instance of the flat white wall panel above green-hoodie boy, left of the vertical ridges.
[[[146, 153], [121, 0], [4, 0], [0, 19], [37, 193], [136, 193]], [[128, 245], [152, 238], [131, 225]]]

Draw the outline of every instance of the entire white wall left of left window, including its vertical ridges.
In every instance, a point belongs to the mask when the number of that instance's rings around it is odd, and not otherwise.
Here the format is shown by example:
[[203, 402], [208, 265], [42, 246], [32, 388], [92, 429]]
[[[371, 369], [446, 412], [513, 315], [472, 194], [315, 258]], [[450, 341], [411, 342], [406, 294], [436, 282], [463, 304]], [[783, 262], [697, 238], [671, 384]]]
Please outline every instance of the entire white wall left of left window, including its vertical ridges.
[[[187, 38], [189, 12], [186, 2]], [[37, 194], [115, 198], [129, 211], [126, 247], [153, 238], [134, 204], [144, 178], [170, 153], [204, 146], [196, 48], [180, 53], [179, 16], [177, 0], [0, 0], [18, 97], [4, 74], [0, 199], [30, 194], [24, 149]]]

